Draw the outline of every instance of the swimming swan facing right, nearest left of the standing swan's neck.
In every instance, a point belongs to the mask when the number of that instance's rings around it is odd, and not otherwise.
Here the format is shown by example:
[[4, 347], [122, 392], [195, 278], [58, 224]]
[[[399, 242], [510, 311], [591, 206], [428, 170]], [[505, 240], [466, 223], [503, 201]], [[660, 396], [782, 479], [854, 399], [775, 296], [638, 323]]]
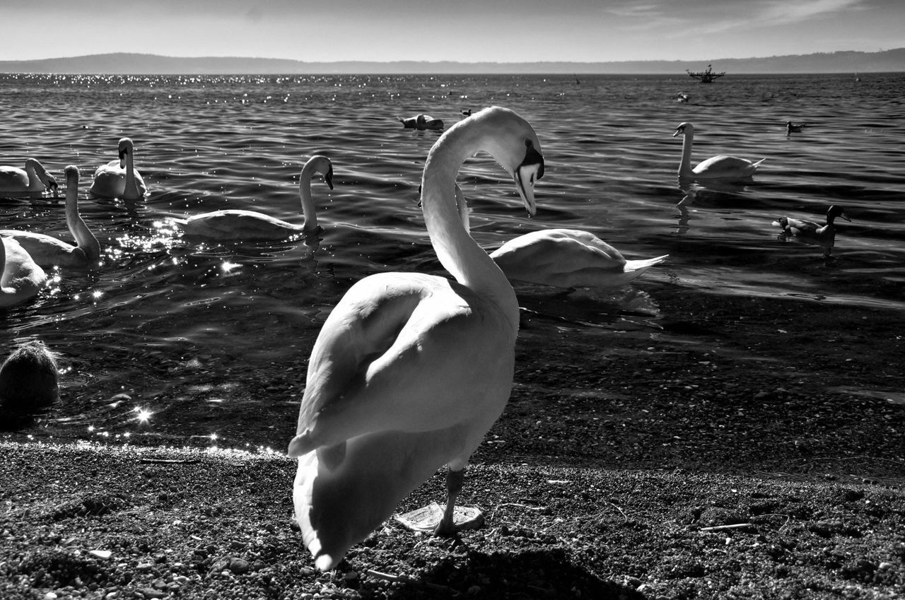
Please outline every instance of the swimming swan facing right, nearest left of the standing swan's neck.
[[315, 173], [322, 174], [329, 188], [333, 189], [333, 163], [323, 155], [310, 157], [301, 167], [299, 176], [301, 212], [305, 216], [303, 224], [289, 223], [257, 211], [238, 209], [195, 214], [187, 219], [170, 217], [167, 220], [186, 235], [214, 240], [278, 242], [297, 234], [307, 237], [320, 231], [318, 210], [311, 198], [311, 178]]

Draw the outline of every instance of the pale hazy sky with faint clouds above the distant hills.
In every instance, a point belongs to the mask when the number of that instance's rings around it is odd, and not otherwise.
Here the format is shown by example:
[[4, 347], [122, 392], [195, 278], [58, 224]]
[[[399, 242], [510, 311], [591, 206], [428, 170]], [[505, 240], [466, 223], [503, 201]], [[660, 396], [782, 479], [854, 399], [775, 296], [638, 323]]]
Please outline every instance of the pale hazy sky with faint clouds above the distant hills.
[[905, 46], [903, 0], [0, 0], [0, 21], [6, 61], [704, 61]]

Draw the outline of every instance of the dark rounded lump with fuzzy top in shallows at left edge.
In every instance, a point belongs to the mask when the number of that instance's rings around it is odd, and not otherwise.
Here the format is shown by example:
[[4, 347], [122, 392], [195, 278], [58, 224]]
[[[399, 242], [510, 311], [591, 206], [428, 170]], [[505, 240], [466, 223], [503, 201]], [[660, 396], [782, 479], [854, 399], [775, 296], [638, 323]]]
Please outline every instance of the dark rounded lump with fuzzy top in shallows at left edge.
[[25, 342], [0, 367], [0, 408], [29, 414], [60, 399], [59, 370], [39, 339]]

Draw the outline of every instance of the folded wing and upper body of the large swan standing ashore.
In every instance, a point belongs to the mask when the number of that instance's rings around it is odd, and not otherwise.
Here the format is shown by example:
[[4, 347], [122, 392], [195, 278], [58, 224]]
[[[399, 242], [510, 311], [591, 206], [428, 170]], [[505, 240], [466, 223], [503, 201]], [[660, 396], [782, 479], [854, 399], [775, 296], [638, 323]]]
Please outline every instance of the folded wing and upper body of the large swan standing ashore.
[[290, 454], [365, 433], [432, 431], [480, 412], [496, 418], [511, 386], [514, 336], [490, 300], [454, 281], [384, 273], [357, 282], [311, 352]]

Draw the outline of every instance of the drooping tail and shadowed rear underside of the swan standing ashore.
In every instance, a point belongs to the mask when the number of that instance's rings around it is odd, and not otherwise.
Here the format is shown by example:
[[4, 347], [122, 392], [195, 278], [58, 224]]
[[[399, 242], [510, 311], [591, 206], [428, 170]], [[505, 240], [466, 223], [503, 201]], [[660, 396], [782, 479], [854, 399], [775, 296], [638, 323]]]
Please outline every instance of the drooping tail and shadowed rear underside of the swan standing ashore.
[[[337, 566], [348, 548], [389, 518], [396, 505], [444, 463], [461, 436], [445, 431], [374, 433], [346, 443], [331, 468], [333, 452], [311, 451], [299, 458], [293, 486], [295, 519], [315, 566]], [[326, 451], [326, 454], [325, 454]]]

